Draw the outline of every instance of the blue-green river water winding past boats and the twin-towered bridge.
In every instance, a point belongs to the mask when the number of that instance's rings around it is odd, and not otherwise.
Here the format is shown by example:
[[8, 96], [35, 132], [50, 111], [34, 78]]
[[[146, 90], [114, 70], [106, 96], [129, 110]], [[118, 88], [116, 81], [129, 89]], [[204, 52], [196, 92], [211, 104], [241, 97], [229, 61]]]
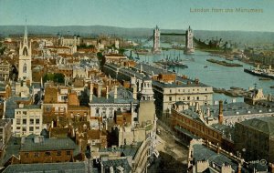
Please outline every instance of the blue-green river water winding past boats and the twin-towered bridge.
[[[130, 53], [127, 52], [126, 54], [129, 55]], [[137, 55], [133, 54], [132, 51], [132, 56], [136, 57]], [[259, 80], [258, 76], [252, 76], [244, 72], [244, 68], [249, 68], [250, 66], [237, 60], [234, 60], [233, 63], [238, 63], [243, 66], [229, 67], [207, 62], [206, 59], [208, 58], [217, 60], [224, 60], [224, 58], [210, 56], [209, 53], [199, 50], [195, 50], [194, 55], [184, 55], [182, 50], [170, 49], [162, 51], [161, 55], [141, 55], [137, 61], [153, 65], [153, 62], [159, 61], [167, 56], [171, 59], [180, 58], [184, 60], [184, 63], [188, 66], [188, 68], [171, 67], [169, 68], [170, 71], [174, 71], [178, 75], [189, 76], [190, 78], [197, 77], [205, 85], [226, 89], [229, 89], [230, 86], [248, 89], [248, 87], [254, 87], [256, 85], [257, 88], [263, 89], [265, 96], [268, 94], [274, 95], [274, 89], [269, 87], [274, 86], [274, 80]], [[243, 97], [227, 97], [223, 94], [214, 94], [213, 96], [214, 100], [227, 99], [228, 103], [232, 101], [232, 98], [236, 98], [239, 102], [243, 101]]]

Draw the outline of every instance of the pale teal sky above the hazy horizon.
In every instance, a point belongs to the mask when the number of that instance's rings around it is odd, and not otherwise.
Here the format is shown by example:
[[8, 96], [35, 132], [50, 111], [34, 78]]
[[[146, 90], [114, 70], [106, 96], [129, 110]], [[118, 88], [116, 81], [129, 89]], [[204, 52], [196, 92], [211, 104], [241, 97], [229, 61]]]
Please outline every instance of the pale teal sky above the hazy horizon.
[[[195, 12], [195, 9], [208, 12]], [[223, 11], [213, 12], [212, 8]], [[226, 13], [229, 8], [233, 12]], [[259, 13], [236, 12], [236, 8]], [[0, 0], [0, 25], [111, 25], [274, 32], [274, 0]]]

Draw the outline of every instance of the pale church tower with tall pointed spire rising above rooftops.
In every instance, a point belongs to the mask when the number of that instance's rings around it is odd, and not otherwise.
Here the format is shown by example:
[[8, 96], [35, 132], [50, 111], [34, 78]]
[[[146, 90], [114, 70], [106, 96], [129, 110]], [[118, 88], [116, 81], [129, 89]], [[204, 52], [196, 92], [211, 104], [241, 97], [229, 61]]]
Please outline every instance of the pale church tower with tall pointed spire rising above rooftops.
[[26, 25], [25, 25], [25, 35], [24, 35], [23, 45], [20, 42], [20, 47], [19, 47], [18, 79], [28, 80], [30, 85], [32, 83], [31, 43], [28, 45]]

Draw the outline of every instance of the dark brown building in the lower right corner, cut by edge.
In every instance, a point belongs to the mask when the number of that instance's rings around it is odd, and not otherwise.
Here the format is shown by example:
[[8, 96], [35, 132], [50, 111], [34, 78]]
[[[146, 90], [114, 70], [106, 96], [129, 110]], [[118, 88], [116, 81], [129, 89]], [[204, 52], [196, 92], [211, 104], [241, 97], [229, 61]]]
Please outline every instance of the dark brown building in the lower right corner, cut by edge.
[[274, 117], [258, 117], [236, 123], [235, 146], [248, 161], [265, 159], [273, 163]]

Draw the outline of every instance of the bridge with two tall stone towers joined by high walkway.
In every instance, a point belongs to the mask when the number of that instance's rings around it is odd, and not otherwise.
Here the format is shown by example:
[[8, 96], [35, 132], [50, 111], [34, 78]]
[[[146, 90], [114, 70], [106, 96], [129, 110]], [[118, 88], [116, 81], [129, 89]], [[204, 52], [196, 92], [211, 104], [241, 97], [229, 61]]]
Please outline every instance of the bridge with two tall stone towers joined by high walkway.
[[195, 47], [193, 44], [194, 33], [190, 26], [185, 33], [161, 33], [158, 25], [156, 25], [153, 30], [153, 36], [147, 40], [150, 41], [153, 39], [153, 54], [161, 53], [160, 36], [185, 36], [184, 54], [193, 54], [195, 52]]

